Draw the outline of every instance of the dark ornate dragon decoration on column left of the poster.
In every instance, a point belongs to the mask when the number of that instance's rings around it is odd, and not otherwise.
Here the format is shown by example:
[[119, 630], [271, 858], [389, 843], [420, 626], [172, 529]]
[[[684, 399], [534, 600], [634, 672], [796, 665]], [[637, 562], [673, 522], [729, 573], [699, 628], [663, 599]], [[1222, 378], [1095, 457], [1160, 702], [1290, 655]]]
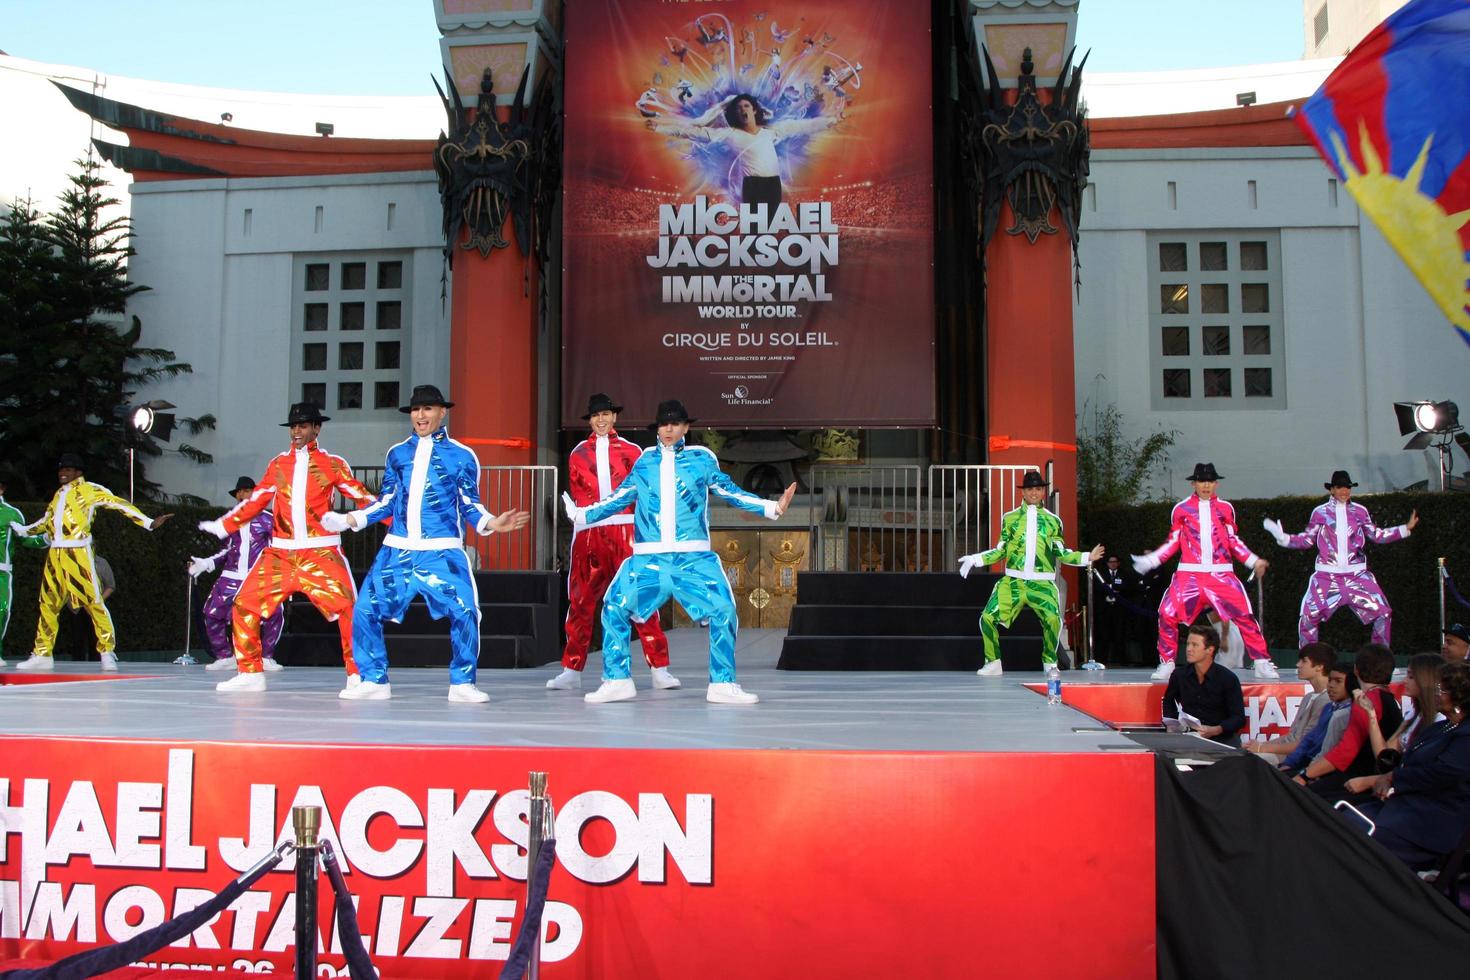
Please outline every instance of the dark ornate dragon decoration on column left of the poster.
[[448, 118], [448, 131], [440, 132], [434, 150], [434, 172], [444, 209], [444, 262], [450, 267], [456, 245], [476, 250], [484, 259], [495, 248], [506, 248], [507, 219], [520, 253], [545, 264], [551, 213], [562, 184], [562, 112], [554, 72], [547, 72], [528, 106], [529, 75], [528, 66], [520, 73], [507, 122], [495, 115], [488, 68], [473, 112], [465, 107], [448, 72], [444, 78], [448, 96], [438, 79], [434, 82]]

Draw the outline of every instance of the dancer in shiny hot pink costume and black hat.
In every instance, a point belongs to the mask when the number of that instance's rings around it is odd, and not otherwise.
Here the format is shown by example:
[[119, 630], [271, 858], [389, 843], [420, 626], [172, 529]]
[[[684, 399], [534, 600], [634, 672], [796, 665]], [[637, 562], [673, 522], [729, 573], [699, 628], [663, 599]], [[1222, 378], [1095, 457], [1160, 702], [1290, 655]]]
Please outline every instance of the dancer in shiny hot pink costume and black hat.
[[1154, 680], [1169, 680], [1179, 649], [1179, 624], [1194, 623], [1207, 605], [1241, 630], [1257, 677], [1280, 676], [1266, 651], [1266, 638], [1251, 611], [1245, 586], [1235, 577], [1232, 558], [1258, 576], [1266, 574], [1270, 563], [1236, 536], [1235, 508], [1214, 495], [1219, 479], [1214, 463], [1195, 463], [1189, 475], [1195, 492], [1175, 504], [1169, 538], [1147, 555], [1133, 555], [1133, 570], [1144, 574], [1179, 552], [1179, 569], [1158, 604], [1158, 669], [1154, 670]]

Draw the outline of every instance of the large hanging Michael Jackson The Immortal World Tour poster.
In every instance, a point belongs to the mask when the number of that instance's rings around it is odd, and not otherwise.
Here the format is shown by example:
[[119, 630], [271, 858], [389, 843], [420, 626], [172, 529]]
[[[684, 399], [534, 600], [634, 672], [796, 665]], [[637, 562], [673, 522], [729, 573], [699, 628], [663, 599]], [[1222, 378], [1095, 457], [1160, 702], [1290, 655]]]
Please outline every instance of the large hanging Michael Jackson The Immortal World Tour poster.
[[566, 9], [562, 419], [933, 423], [929, 4]]

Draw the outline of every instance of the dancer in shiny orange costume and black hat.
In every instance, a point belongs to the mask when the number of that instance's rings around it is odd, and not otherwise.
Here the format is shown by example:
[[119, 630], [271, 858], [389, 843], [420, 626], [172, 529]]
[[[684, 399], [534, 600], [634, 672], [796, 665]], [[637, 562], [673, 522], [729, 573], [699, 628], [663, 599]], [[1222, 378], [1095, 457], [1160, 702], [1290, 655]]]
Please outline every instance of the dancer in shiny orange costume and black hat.
[[266, 475], [245, 502], [219, 520], [200, 523], [200, 530], [223, 538], [250, 523], [268, 504], [273, 504], [275, 536], [270, 547], [260, 552], [235, 597], [232, 633], [240, 673], [215, 685], [216, 691], [234, 693], [266, 689], [260, 624], [293, 592], [304, 594], [328, 621], [337, 621], [347, 686], [351, 688], [359, 680], [357, 664], [353, 663], [351, 617], [357, 586], [347, 569], [347, 558], [343, 557], [341, 536], [322, 526], [322, 516], [331, 511], [332, 491], [357, 504], [369, 504], [375, 498], [353, 478], [347, 460], [316, 444], [323, 422], [328, 417], [316, 406], [291, 406], [291, 414], [282, 423], [291, 430], [291, 448], [270, 460]]

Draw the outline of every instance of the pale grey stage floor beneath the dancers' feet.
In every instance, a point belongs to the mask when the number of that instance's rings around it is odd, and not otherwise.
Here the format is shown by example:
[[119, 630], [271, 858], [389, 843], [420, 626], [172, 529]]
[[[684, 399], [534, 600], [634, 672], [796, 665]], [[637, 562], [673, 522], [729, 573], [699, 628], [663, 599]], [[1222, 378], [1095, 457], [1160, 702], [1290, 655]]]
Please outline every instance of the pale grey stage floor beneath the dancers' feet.
[[[547, 691], [560, 664], [482, 670], [490, 704], [448, 704], [442, 669], [392, 671], [391, 701], [341, 701], [343, 671], [287, 667], [268, 674], [265, 693], [222, 695], [232, 671], [122, 663], [118, 680], [4, 683], [6, 735], [98, 736], [206, 742], [332, 742], [391, 745], [600, 746], [635, 749], [814, 749], [939, 752], [1142, 751], [1135, 742], [1066, 705], [1023, 688], [1039, 673], [998, 680], [970, 671], [776, 670], [785, 630], [739, 635], [739, 682], [760, 695], [753, 707], [704, 701], [707, 633], [669, 632], [679, 691], [653, 691], [635, 652], [638, 698], [585, 704], [578, 692]], [[584, 691], [597, 686], [594, 654]], [[97, 674], [96, 663], [60, 663], [56, 676]], [[1064, 671], [1067, 683], [1141, 683], [1147, 670]]]

